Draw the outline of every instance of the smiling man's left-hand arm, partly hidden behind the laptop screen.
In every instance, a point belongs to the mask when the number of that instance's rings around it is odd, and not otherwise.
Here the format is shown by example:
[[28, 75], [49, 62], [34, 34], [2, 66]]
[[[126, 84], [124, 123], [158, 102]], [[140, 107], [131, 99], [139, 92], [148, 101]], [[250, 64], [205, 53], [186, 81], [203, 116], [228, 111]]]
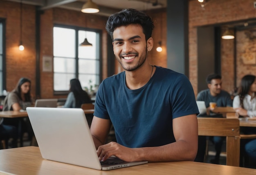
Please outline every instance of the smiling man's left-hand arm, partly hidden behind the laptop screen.
[[108, 133], [110, 131], [110, 127], [110, 120], [93, 116], [90, 131], [96, 149], [98, 149], [99, 146], [105, 144], [106, 138], [108, 137]]

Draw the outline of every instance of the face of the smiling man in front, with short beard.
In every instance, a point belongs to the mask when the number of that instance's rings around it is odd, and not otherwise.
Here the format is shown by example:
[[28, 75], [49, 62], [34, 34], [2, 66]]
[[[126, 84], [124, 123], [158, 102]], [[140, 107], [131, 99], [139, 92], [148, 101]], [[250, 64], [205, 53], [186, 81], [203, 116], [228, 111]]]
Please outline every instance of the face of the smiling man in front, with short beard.
[[112, 44], [117, 61], [124, 70], [133, 71], [145, 62], [147, 46], [153, 46], [153, 40], [149, 38], [146, 42], [140, 25], [128, 25], [115, 29]]

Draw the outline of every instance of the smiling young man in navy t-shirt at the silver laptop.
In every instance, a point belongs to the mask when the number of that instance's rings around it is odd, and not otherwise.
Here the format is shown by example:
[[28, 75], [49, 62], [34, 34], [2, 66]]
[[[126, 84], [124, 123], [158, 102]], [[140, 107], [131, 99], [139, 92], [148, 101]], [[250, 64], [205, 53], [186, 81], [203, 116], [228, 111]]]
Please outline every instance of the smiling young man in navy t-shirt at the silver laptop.
[[[198, 150], [199, 113], [183, 74], [150, 65], [152, 19], [135, 9], [108, 18], [106, 30], [124, 72], [102, 81], [91, 133], [101, 161], [193, 161]], [[104, 144], [111, 124], [117, 142]]]

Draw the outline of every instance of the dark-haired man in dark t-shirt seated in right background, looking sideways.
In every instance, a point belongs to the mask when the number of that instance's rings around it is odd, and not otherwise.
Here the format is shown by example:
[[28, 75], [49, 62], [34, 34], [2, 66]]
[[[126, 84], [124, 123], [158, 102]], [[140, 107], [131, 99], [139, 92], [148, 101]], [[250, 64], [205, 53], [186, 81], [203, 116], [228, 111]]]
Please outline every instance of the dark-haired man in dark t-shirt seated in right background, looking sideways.
[[[210, 111], [210, 116], [207, 117], [222, 117], [222, 114], [213, 113], [210, 108], [210, 102], [215, 102], [218, 107], [232, 107], [232, 99], [228, 92], [222, 90], [222, 77], [218, 74], [211, 74], [207, 76], [206, 82], [208, 89], [202, 90], [198, 93], [197, 101], [204, 101], [207, 110]], [[200, 117], [200, 115], [199, 115]], [[205, 117], [205, 116], [202, 116]], [[216, 155], [215, 158], [211, 160], [213, 164], [219, 164], [220, 153], [222, 148], [222, 143], [225, 137], [211, 136], [209, 140], [213, 141], [215, 145]], [[198, 154], [195, 158], [196, 162], [204, 162], [204, 154], [206, 149], [206, 136], [198, 137]]]

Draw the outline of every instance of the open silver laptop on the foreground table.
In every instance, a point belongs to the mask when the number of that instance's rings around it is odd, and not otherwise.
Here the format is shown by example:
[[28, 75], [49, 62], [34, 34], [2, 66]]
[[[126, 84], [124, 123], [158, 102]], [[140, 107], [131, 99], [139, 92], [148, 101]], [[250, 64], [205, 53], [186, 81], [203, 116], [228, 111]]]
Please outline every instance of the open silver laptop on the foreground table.
[[27, 113], [44, 159], [97, 170], [148, 163], [124, 162], [117, 157], [100, 162], [85, 114], [80, 108], [28, 107]]

